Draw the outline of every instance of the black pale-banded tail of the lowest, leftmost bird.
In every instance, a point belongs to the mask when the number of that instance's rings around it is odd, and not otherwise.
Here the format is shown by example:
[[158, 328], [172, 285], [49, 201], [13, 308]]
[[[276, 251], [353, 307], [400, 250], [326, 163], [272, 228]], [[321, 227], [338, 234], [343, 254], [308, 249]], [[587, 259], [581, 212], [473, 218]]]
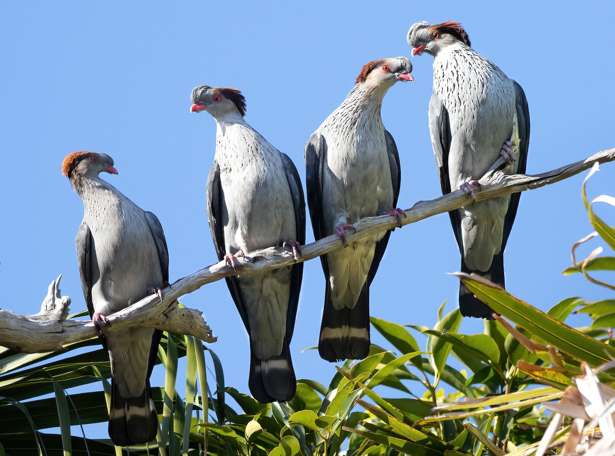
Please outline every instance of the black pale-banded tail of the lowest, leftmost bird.
[[151, 395], [149, 380], [141, 396], [122, 398], [111, 379], [111, 411], [109, 437], [117, 446], [129, 446], [156, 439], [158, 415]]

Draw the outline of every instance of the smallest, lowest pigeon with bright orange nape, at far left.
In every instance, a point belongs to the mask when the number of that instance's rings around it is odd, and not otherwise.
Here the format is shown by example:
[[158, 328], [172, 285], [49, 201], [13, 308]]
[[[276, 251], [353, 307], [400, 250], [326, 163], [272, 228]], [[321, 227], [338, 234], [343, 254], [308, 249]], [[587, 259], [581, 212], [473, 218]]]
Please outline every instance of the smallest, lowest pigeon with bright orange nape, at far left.
[[133, 326], [107, 335], [106, 316], [169, 281], [162, 226], [98, 174], [117, 174], [109, 155], [73, 152], [62, 163], [84, 206], [75, 240], [81, 286], [92, 321], [111, 361], [109, 437], [118, 446], [156, 439], [158, 417], [149, 387], [162, 332]]

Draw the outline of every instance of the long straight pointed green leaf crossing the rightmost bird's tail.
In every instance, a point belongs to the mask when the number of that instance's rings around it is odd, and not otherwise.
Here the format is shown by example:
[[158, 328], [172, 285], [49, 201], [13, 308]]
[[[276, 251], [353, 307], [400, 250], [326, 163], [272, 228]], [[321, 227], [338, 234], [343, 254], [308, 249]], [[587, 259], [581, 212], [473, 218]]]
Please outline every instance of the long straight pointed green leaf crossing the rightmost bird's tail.
[[478, 276], [456, 273], [478, 299], [485, 302], [494, 312], [514, 321], [547, 344], [590, 366], [600, 366], [615, 358], [615, 348], [598, 342], [576, 329], [561, 323], [541, 310], [521, 301], [499, 288], [499, 286]]

